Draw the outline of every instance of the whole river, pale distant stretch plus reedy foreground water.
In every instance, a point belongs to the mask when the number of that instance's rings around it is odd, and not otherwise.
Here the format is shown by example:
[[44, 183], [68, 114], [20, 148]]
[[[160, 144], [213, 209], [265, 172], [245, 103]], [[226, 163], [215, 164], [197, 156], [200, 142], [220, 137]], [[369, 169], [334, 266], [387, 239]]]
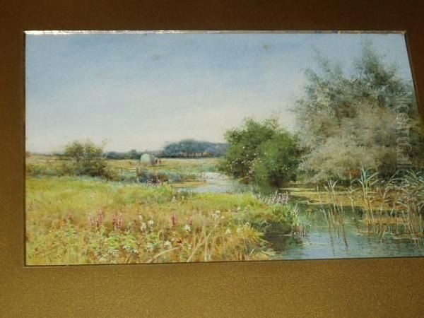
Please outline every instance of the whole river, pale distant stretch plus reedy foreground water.
[[[204, 174], [204, 184], [180, 189], [192, 192], [233, 193], [240, 191], [240, 184], [216, 172]], [[295, 200], [295, 197], [293, 197]], [[365, 232], [360, 216], [346, 211], [344, 230], [329, 229], [324, 214], [314, 204], [298, 204], [298, 216], [310, 226], [306, 235], [273, 235], [265, 237], [276, 251], [273, 259], [346, 259], [366, 257], [423, 257], [424, 239], [411, 239]]]

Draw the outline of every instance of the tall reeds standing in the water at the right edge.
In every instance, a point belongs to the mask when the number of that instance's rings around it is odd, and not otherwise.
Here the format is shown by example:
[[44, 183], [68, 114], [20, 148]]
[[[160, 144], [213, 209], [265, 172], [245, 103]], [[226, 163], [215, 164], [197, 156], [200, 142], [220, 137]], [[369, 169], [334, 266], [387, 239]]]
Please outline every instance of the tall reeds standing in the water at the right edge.
[[[336, 189], [337, 182], [324, 185], [329, 204], [322, 203], [322, 192], [317, 185], [321, 211], [330, 229], [339, 232], [346, 223], [346, 196]], [[424, 178], [422, 172], [408, 170], [401, 175], [382, 179], [378, 172], [360, 170], [358, 179], [351, 179], [347, 189], [353, 216], [359, 216], [365, 225], [365, 233], [378, 235], [382, 240], [386, 233], [421, 237], [424, 233]], [[362, 231], [362, 228], [360, 228]]]

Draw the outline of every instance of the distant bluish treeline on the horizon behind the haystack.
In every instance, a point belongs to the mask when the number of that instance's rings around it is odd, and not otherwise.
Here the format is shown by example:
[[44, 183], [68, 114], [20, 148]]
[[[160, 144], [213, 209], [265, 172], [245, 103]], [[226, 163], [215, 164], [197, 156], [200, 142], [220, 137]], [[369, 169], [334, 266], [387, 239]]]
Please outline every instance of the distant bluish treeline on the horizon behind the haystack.
[[[184, 139], [173, 143], [167, 143], [160, 151], [149, 151], [153, 155], [161, 158], [201, 158], [201, 157], [221, 157], [225, 155], [228, 143], [211, 143], [209, 141], [196, 141], [194, 139]], [[139, 159], [146, 151], [117, 152], [108, 151], [105, 153], [107, 159]]]

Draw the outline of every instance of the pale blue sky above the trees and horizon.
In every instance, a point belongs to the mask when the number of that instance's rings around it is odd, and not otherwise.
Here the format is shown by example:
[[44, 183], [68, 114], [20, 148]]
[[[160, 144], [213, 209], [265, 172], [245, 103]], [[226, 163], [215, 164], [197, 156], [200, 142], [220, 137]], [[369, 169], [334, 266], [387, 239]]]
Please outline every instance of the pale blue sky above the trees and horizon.
[[27, 34], [26, 147], [105, 141], [106, 150], [156, 150], [184, 138], [223, 141], [243, 118], [289, 111], [316, 51], [345, 69], [372, 40], [410, 80], [401, 34]]

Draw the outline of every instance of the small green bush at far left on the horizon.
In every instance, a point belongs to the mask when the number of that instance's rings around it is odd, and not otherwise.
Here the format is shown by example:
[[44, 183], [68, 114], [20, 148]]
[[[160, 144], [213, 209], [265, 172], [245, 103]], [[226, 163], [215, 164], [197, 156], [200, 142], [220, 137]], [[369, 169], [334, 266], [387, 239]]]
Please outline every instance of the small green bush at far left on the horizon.
[[64, 155], [71, 158], [71, 171], [75, 175], [103, 176], [107, 163], [103, 157], [102, 146], [96, 146], [90, 140], [85, 142], [73, 141], [66, 145]]

